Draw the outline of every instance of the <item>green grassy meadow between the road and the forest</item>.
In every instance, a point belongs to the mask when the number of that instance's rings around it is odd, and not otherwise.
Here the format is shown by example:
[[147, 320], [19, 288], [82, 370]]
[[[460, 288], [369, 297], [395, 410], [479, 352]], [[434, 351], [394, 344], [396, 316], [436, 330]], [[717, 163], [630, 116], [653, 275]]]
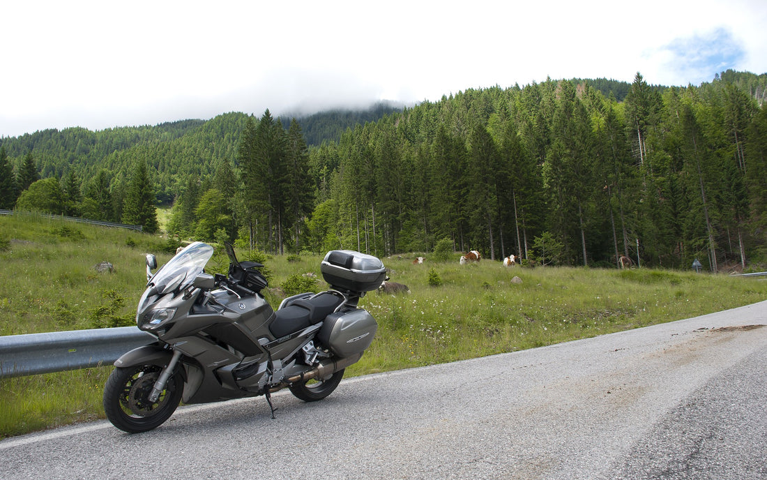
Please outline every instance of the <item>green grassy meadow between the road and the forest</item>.
[[[104, 323], [97, 315], [104, 309], [130, 321], [145, 284], [144, 253], [156, 253], [164, 263], [167, 250], [174, 249], [166, 240], [128, 230], [0, 217], [0, 335], [93, 328]], [[506, 269], [488, 260], [462, 266], [457, 256], [449, 263], [427, 257], [422, 265], [413, 265], [412, 258], [382, 260], [391, 280], [407, 284], [412, 293], [369, 293], [361, 300], [379, 329], [347, 376], [550, 345], [767, 299], [767, 282], [757, 278], [670, 270]], [[100, 261], [113, 263], [116, 271], [97, 273]], [[278, 287], [291, 276], [315, 273], [318, 290], [326, 288], [320, 262], [321, 257], [269, 257], [265, 296], [272, 306], [283, 296]], [[430, 284], [435, 275], [439, 286]], [[512, 283], [513, 276], [522, 283]], [[0, 380], [0, 438], [104, 418], [101, 394], [110, 370]]]

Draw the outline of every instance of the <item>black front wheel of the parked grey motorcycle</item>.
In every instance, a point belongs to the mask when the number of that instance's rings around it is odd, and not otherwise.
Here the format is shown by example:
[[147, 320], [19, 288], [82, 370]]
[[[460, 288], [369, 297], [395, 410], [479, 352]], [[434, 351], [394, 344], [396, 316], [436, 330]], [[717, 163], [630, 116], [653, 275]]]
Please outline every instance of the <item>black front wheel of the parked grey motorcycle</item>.
[[141, 365], [117, 367], [104, 386], [104, 412], [118, 429], [128, 433], [146, 432], [165, 422], [181, 402], [183, 378], [179, 372], [168, 379], [155, 402], [148, 400], [163, 367]]

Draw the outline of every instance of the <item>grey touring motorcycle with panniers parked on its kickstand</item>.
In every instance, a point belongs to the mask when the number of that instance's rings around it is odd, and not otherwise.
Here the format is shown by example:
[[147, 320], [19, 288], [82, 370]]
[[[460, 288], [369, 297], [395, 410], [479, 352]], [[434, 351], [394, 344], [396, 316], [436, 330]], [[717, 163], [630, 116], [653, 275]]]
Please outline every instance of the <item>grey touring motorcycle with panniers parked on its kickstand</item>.
[[344, 369], [373, 342], [377, 323], [358, 306], [386, 276], [377, 258], [332, 250], [320, 270], [330, 289], [301, 293], [272, 310], [261, 291], [263, 265], [239, 262], [232, 245], [226, 275], [205, 266], [213, 247], [195, 242], [160, 270], [146, 255], [146, 290], [136, 322], [156, 336], [114, 362], [104, 386], [104, 411], [125, 432], [162, 425], [179, 402], [218, 402], [265, 396], [288, 388], [304, 402], [333, 392]]

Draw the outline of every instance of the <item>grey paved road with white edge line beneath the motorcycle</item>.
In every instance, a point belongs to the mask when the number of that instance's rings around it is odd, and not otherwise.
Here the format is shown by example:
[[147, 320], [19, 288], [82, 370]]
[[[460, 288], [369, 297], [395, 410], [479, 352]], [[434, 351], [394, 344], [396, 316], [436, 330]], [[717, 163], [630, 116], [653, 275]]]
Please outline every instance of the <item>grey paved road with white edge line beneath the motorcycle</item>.
[[0, 478], [767, 478], [767, 302], [0, 442]]

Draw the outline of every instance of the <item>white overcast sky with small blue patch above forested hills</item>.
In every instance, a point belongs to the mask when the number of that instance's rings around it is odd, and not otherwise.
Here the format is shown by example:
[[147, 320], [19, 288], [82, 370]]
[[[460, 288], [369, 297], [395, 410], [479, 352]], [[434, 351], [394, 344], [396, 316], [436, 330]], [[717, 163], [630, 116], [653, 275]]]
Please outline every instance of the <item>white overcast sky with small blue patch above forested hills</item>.
[[0, 137], [436, 101], [547, 77], [767, 72], [765, 0], [24, 0], [0, 22]]

